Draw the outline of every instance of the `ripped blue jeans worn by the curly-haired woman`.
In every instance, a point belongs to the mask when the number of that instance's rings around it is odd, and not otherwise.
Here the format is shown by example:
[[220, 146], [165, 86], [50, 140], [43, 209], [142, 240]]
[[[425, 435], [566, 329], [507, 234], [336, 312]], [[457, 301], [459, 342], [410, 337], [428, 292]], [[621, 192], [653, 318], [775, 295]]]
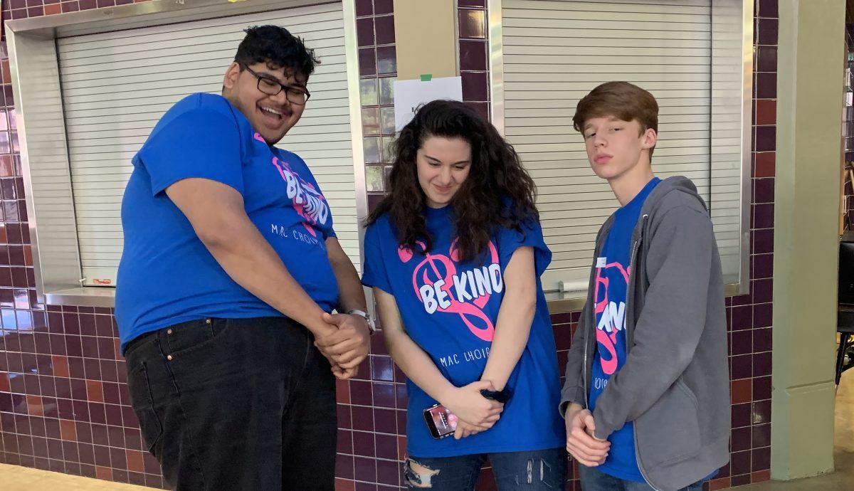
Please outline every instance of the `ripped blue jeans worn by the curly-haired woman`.
[[409, 489], [470, 491], [489, 459], [499, 491], [564, 490], [567, 458], [564, 448], [530, 452], [476, 453], [459, 457], [410, 457], [404, 463]]

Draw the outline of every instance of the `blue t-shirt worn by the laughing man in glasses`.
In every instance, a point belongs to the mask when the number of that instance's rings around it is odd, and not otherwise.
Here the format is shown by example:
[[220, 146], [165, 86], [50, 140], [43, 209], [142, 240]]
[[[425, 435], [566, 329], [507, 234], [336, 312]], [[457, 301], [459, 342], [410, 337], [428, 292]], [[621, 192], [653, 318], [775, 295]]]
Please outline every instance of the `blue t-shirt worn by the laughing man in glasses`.
[[[290, 274], [325, 311], [338, 286], [325, 239], [325, 197], [306, 163], [271, 147], [228, 100], [187, 96], [164, 114], [133, 158], [121, 203], [124, 252], [116, 282], [121, 348], [151, 330], [206, 317], [282, 316], [229, 277], [165, 190], [184, 178], [227, 184]], [[239, 237], [235, 237], [239, 240]]]

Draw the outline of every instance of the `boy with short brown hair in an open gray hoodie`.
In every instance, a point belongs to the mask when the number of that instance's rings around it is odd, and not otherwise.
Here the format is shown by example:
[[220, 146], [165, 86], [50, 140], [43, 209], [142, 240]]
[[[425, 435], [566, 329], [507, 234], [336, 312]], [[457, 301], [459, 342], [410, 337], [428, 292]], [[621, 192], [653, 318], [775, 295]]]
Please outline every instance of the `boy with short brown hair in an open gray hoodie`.
[[621, 208], [596, 237], [560, 411], [584, 491], [700, 491], [729, 459], [717, 243], [687, 178], [652, 174], [658, 103], [627, 82], [578, 102], [590, 166]]

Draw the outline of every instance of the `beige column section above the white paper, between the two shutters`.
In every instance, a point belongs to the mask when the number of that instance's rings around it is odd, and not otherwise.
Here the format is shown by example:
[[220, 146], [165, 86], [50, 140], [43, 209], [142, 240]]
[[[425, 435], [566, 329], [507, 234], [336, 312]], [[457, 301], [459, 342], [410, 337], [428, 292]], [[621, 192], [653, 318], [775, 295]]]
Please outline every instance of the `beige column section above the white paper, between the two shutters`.
[[395, 0], [397, 79], [457, 73], [457, 12], [453, 0]]

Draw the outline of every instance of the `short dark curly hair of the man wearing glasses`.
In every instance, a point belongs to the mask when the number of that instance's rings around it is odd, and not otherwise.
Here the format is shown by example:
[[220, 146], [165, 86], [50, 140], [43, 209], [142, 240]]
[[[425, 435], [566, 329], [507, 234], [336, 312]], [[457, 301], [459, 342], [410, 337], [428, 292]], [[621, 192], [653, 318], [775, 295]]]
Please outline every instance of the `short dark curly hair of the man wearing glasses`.
[[255, 63], [266, 63], [271, 67], [290, 68], [308, 78], [314, 66], [320, 64], [314, 50], [306, 47], [301, 38], [280, 26], [252, 26], [246, 29], [246, 37], [237, 46], [234, 61], [240, 69]]

